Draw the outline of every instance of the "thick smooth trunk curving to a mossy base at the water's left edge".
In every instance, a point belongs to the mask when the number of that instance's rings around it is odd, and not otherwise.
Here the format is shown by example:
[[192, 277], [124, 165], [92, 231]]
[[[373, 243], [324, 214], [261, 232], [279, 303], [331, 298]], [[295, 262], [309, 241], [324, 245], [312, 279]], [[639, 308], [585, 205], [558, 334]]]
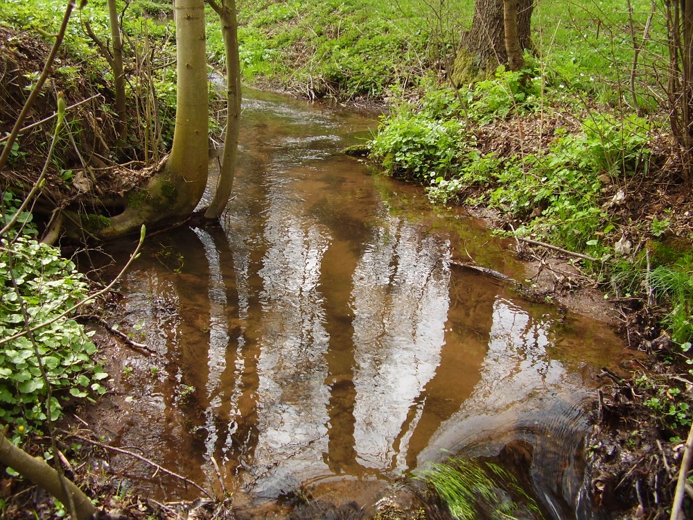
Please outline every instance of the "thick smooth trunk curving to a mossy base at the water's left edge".
[[[177, 98], [173, 148], [146, 187], [126, 196], [123, 213], [93, 230], [101, 239], [139, 232], [141, 225], [179, 223], [207, 187], [209, 94], [204, 1], [176, 0]], [[87, 227], [87, 223], [84, 223]]]

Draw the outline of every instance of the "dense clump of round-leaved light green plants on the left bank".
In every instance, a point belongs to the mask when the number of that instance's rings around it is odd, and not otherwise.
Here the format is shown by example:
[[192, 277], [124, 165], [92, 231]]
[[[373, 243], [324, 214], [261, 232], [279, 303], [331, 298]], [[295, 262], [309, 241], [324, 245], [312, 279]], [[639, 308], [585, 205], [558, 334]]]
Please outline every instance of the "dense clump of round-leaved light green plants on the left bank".
[[[3, 193], [3, 205], [5, 222], [18, 202]], [[48, 410], [54, 421], [70, 399], [103, 394], [99, 381], [107, 377], [92, 358], [93, 332], [66, 312], [89, 297], [84, 275], [57, 249], [31, 238], [30, 214], [19, 222], [19, 232], [0, 237], [0, 423], [13, 426], [15, 442], [41, 431]], [[51, 386], [48, 406], [37, 353]]]

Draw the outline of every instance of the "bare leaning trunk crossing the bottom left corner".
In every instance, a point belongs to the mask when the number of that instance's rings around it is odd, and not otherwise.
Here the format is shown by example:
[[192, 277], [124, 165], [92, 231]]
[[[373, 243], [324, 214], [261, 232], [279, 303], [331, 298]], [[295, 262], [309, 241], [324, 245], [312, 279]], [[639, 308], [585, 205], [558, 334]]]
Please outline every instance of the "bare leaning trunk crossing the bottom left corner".
[[[50, 467], [42, 458], [32, 457], [23, 449], [17, 448], [2, 432], [0, 432], [0, 462], [42, 487], [62, 503], [69, 503], [60, 483], [58, 471]], [[64, 484], [75, 505], [77, 514], [75, 520], [91, 520], [96, 515], [96, 508], [87, 495], [67, 478]]]

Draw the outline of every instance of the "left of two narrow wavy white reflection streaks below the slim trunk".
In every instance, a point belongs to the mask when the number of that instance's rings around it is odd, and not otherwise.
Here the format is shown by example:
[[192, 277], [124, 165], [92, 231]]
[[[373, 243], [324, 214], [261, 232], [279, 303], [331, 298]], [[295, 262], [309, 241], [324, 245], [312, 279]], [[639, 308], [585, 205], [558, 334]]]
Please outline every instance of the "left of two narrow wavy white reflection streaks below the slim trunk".
[[209, 406], [204, 410], [207, 428], [207, 460], [214, 456], [218, 440], [215, 410], [222, 405], [220, 397], [221, 374], [226, 368], [226, 352], [229, 347], [228, 319], [226, 315], [226, 287], [221, 274], [219, 252], [214, 239], [204, 229], [194, 228], [204, 247], [204, 256], [209, 264], [209, 349], [207, 350], [207, 399]]

